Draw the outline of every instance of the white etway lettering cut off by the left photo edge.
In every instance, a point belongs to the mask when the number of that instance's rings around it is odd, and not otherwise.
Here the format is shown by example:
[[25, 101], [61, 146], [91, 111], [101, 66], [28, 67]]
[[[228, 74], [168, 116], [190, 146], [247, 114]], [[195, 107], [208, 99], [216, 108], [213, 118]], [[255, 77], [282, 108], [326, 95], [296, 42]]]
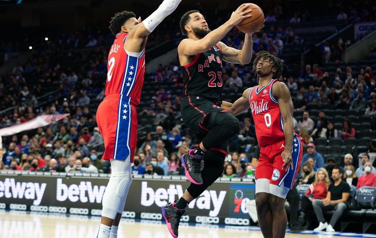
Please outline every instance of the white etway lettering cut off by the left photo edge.
[[24, 198], [34, 200], [33, 205], [41, 204], [47, 183], [15, 182], [14, 178], [0, 181], [0, 198]]

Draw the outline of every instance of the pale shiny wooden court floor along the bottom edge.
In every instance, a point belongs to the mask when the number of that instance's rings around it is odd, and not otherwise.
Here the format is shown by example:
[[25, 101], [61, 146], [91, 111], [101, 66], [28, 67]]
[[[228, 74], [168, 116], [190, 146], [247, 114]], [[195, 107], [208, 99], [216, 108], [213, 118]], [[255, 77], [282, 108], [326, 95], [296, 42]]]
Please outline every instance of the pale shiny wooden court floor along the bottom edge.
[[[95, 238], [100, 217], [0, 210], [0, 238]], [[179, 238], [262, 238], [258, 227], [181, 223]], [[370, 237], [375, 234], [306, 231], [287, 238]], [[118, 238], [171, 238], [161, 221], [123, 219]]]

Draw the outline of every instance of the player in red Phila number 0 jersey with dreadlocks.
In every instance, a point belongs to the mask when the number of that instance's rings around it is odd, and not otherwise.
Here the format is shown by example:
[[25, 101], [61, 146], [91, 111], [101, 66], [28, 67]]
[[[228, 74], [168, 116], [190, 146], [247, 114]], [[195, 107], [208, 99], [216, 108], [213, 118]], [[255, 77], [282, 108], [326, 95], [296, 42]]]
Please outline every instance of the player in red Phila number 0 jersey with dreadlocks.
[[285, 237], [285, 198], [293, 188], [303, 148], [294, 132], [290, 91], [278, 79], [280, 59], [261, 51], [253, 62], [253, 72], [259, 85], [248, 88], [233, 104], [223, 102], [222, 108], [233, 115], [249, 108], [252, 111], [261, 149], [255, 176], [258, 221], [264, 237]]

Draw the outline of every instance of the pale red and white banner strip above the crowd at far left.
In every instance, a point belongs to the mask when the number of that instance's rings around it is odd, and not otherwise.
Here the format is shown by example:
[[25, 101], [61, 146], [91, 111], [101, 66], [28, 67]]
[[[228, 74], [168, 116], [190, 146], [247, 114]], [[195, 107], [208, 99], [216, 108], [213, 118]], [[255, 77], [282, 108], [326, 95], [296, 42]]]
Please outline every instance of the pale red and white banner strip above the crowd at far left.
[[31, 119], [30, 121], [0, 129], [0, 136], [11, 136], [11, 135], [20, 133], [22, 131], [44, 127], [44, 126], [51, 124], [52, 118], [55, 118], [55, 121], [60, 121], [61, 119], [69, 115], [70, 115], [69, 113], [65, 113], [65, 114], [48, 114], [48, 115], [37, 116], [34, 119]]

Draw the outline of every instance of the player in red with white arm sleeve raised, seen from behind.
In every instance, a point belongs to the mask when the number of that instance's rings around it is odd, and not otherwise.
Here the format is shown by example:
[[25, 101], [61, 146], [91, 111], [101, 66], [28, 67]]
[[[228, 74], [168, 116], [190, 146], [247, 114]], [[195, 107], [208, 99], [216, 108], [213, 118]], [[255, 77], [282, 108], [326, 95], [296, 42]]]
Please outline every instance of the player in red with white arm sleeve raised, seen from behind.
[[102, 220], [97, 238], [116, 238], [132, 182], [131, 163], [137, 139], [137, 113], [145, 72], [147, 36], [170, 15], [181, 0], [164, 0], [143, 22], [133, 12], [118, 12], [110, 29], [116, 36], [108, 54], [105, 99], [97, 109], [97, 123], [105, 143], [102, 159], [112, 174], [103, 194]]

